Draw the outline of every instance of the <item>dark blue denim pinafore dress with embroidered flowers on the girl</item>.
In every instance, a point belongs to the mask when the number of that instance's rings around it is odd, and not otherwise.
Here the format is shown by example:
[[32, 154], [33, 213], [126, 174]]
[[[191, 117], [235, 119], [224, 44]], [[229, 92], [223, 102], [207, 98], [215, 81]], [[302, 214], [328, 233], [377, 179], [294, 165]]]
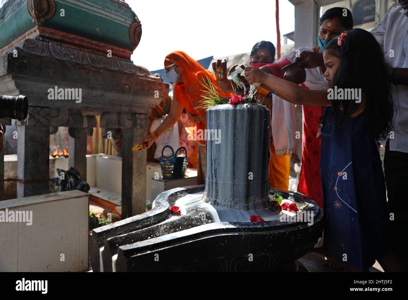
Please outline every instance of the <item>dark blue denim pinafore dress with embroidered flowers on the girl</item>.
[[364, 270], [388, 253], [388, 212], [377, 145], [368, 135], [366, 112], [337, 126], [323, 116], [320, 173], [326, 256]]

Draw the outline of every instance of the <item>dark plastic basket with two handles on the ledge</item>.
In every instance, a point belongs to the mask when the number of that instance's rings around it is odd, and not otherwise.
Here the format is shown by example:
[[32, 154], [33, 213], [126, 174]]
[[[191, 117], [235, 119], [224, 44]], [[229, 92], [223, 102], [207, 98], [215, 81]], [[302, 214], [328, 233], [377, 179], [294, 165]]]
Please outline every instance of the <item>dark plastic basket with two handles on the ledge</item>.
[[[169, 147], [173, 154], [171, 156], [164, 156], [164, 149]], [[183, 149], [186, 153], [184, 157], [177, 157], [177, 152]], [[177, 179], [183, 178], [187, 170], [187, 150], [184, 147], [177, 149], [176, 153], [171, 146], [167, 145], [163, 147], [162, 156], [160, 156], [160, 168], [162, 169], [163, 179]]]

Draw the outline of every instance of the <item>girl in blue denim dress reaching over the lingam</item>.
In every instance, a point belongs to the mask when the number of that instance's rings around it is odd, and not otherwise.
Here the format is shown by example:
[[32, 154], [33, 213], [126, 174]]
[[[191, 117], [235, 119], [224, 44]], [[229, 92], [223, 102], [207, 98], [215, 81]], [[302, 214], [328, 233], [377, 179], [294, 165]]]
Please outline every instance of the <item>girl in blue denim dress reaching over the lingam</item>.
[[349, 271], [367, 271], [375, 260], [385, 271], [400, 271], [390, 253], [386, 187], [376, 145], [392, 131], [394, 115], [384, 54], [368, 31], [351, 29], [331, 40], [320, 60], [327, 68], [328, 90], [302, 89], [251, 67], [245, 78], [271, 87], [291, 103], [326, 107], [317, 133], [322, 135], [326, 256], [344, 262]]

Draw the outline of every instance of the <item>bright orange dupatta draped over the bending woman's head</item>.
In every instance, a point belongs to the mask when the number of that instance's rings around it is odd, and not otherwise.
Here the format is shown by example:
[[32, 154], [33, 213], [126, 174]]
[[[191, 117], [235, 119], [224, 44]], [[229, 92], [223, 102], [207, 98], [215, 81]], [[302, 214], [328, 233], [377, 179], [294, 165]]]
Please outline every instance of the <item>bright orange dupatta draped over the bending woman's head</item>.
[[[216, 78], [213, 73], [204, 69], [196, 60], [193, 60], [183, 51], [174, 51], [166, 56], [164, 60], [164, 67], [171, 64], [176, 64], [182, 76], [182, 83], [174, 84], [174, 97], [182, 104], [182, 106], [188, 111], [190, 120], [195, 124], [198, 129], [204, 130], [206, 128], [206, 111], [202, 108], [197, 108], [202, 103], [202, 89], [204, 87], [200, 84], [204, 80], [208, 79], [217, 86]], [[224, 94], [220, 96], [231, 96]], [[204, 140], [197, 141], [200, 144], [205, 144]]]

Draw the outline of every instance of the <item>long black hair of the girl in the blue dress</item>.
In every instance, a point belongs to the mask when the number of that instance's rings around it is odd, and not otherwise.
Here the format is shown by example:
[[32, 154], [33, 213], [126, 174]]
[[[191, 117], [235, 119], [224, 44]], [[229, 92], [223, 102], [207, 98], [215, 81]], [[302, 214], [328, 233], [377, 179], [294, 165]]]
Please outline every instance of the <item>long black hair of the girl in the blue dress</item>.
[[[337, 38], [331, 40], [324, 49], [328, 54], [340, 59], [339, 67], [332, 80], [332, 88], [361, 89], [361, 98], [365, 103], [355, 100], [332, 100], [333, 110], [330, 117], [341, 123], [355, 113], [361, 104], [365, 104], [366, 129], [370, 136], [379, 140], [386, 138], [392, 131], [394, 101], [388, 85], [388, 69], [384, 53], [377, 40], [364, 29], [346, 31], [341, 46]], [[340, 110], [340, 104], [343, 111]]]

